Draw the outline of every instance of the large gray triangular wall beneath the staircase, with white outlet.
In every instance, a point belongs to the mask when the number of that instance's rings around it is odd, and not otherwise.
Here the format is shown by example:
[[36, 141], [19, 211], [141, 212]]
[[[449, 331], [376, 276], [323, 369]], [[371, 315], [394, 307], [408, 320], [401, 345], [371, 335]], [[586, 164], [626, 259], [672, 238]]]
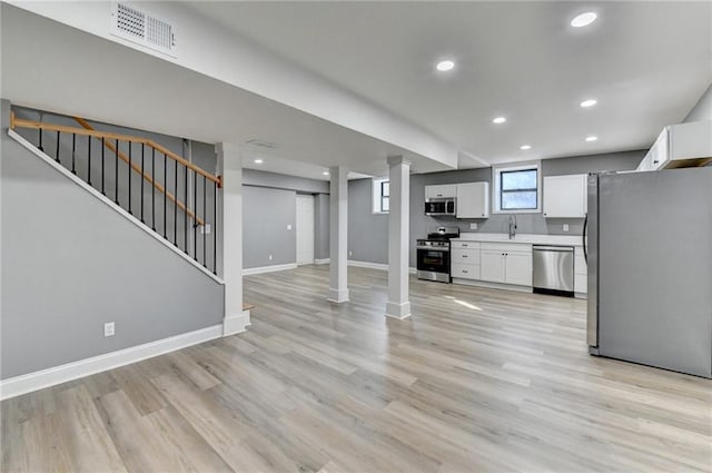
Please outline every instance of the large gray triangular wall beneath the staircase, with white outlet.
[[222, 285], [9, 139], [1, 108], [1, 378], [221, 322]]

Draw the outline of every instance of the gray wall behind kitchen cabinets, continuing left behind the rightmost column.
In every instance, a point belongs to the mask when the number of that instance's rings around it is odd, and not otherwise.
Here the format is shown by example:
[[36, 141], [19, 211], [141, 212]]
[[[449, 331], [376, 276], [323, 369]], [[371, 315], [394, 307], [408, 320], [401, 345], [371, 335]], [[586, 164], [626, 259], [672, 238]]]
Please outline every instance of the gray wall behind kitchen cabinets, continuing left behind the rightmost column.
[[[542, 176], [560, 176], [601, 170], [635, 169], [645, 150], [611, 152], [542, 160]], [[492, 215], [487, 219], [456, 219], [454, 217], [428, 217], [423, 214], [425, 186], [492, 181], [492, 168], [421, 174], [411, 176], [411, 266], [416, 264], [415, 240], [424, 238], [438, 226], [459, 227], [461, 231], [506, 233], [508, 215]], [[358, 179], [348, 183], [348, 249], [349, 259], [369, 263], [388, 262], [388, 216], [372, 211], [372, 180]], [[469, 228], [476, 223], [476, 230]], [[568, 224], [570, 231], [563, 231]], [[518, 214], [518, 233], [544, 235], [581, 235], [583, 219], [545, 219], [542, 214]]]

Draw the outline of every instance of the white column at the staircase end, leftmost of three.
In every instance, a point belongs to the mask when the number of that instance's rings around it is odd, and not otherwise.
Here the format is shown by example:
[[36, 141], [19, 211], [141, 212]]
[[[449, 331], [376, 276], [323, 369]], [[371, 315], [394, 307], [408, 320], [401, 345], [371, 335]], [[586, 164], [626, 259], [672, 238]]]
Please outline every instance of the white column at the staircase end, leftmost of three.
[[245, 332], [249, 311], [243, 311], [243, 157], [239, 146], [218, 144], [218, 174], [222, 176], [221, 247], [222, 280], [225, 280], [225, 318], [222, 336]]

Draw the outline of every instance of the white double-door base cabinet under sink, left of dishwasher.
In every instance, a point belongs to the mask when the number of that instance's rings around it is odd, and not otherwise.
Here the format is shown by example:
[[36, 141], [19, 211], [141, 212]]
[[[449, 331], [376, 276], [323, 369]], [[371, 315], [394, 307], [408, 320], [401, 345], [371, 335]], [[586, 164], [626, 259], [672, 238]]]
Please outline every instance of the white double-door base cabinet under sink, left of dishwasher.
[[491, 283], [532, 286], [532, 246], [525, 244], [483, 244], [479, 277]]

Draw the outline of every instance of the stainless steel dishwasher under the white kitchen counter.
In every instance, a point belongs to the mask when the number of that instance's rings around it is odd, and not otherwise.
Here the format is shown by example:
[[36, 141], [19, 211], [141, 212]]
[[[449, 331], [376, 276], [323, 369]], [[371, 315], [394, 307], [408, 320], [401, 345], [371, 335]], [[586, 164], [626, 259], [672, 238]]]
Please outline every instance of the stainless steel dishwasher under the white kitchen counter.
[[534, 292], [574, 296], [574, 247], [534, 245]]

